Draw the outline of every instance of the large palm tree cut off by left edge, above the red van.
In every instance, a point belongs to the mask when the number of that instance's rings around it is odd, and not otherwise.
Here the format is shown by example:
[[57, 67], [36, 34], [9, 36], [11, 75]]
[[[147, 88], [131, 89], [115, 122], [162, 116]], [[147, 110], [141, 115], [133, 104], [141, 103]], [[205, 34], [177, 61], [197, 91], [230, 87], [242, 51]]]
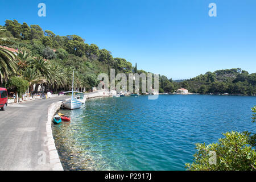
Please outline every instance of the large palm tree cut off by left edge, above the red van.
[[[5, 29], [0, 29], [0, 35], [5, 32]], [[10, 45], [14, 38], [0, 38], [0, 84], [7, 81], [9, 76], [16, 73], [15, 54], [8, 51], [2, 46]]]

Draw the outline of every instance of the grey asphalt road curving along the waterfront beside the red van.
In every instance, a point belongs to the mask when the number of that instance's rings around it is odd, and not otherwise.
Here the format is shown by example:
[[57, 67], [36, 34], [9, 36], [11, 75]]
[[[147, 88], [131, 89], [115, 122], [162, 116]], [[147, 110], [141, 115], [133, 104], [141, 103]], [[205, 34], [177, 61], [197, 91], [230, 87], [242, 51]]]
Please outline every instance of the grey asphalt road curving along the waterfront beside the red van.
[[[48, 107], [67, 96], [10, 104], [0, 110], [0, 170], [47, 170], [40, 165], [40, 151], [47, 151]], [[46, 163], [49, 163], [46, 158]]]

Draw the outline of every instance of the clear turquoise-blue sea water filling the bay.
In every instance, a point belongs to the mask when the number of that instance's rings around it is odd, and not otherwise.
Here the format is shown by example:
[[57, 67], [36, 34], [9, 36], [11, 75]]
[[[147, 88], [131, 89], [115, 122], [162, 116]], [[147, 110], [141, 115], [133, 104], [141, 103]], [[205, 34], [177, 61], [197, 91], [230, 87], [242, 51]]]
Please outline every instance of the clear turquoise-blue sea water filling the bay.
[[256, 131], [256, 97], [160, 95], [96, 98], [53, 125], [64, 169], [184, 170], [195, 143], [217, 142], [226, 131]]

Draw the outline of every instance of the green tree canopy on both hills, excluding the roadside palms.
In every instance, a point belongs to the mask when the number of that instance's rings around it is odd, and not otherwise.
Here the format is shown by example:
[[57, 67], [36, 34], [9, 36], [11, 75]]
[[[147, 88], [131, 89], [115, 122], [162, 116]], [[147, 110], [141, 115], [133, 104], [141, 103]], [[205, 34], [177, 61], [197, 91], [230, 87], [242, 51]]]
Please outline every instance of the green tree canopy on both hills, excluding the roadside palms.
[[[78, 35], [60, 36], [51, 30], [42, 30], [39, 25], [27, 23], [20, 24], [17, 20], [6, 20], [5, 31], [0, 32], [0, 46], [6, 46], [4, 40], [9, 39], [8, 46], [18, 49], [20, 52], [26, 51], [28, 59], [44, 57], [49, 61], [51, 67], [59, 65], [61, 68], [76, 69], [78, 77], [83, 79], [80, 84], [82, 88], [90, 89], [96, 86], [94, 78], [99, 73], [110, 74], [110, 69], [115, 69], [117, 73], [148, 73], [137, 69], [137, 64], [133, 66], [130, 61], [121, 57], [113, 57], [107, 49], [100, 49], [96, 44], [88, 44], [85, 39]], [[14, 40], [16, 38], [16, 40]], [[2, 51], [2, 52], [1, 52]], [[6, 49], [0, 49], [1, 67], [0, 78], [3, 84], [10, 75], [15, 75], [15, 56]], [[87, 76], [89, 75], [89, 76]], [[93, 78], [93, 81], [92, 79]], [[89, 79], [89, 80], [88, 80]], [[48, 82], [49, 84], [49, 82]], [[256, 73], [249, 74], [240, 68], [224, 69], [215, 72], [207, 72], [189, 80], [179, 82], [172, 81], [166, 76], [159, 75], [159, 91], [171, 93], [178, 88], [188, 89], [193, 93], [229, 93], [229, 94], [256, 94]], [[49, 86], [53, 86], [49, 84]], [[68, 85], [64, 86], [64, 89]]]

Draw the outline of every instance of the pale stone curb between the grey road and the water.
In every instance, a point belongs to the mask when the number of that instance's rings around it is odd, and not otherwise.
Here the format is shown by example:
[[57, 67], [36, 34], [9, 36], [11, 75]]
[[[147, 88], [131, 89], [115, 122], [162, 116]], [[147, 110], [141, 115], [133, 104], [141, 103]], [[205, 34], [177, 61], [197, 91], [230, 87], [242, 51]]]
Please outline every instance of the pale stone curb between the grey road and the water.
[[52, 135], [52, 117], [57, 110], [60, 109], [61, 101], [51, 104], [48, 108], [48, 117], [46, 123], [46, 133], [47, 133], [47, 147], [49, 152], [49, 163], [53, 171], [63, 171], [62, 164], [60, 162], [59, 154], [56, 150], [55, 140]]

